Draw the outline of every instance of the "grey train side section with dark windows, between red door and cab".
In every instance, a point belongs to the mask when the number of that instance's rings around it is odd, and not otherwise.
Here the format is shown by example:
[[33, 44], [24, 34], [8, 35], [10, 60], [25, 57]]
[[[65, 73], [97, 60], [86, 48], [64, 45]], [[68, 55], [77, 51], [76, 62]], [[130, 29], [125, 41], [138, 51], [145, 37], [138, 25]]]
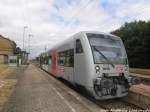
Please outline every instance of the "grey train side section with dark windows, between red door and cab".
[[69, 41], [57, 48], [57, 77], [74, 83], [74, 44]]

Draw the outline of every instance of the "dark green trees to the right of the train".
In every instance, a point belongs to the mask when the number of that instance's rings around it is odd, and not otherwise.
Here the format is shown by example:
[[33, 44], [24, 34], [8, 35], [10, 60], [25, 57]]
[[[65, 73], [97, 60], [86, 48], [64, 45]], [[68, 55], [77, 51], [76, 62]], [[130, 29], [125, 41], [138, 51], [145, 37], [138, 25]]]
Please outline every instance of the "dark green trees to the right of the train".
[[150, 21], [125, 23], [111, 33], [122, 38], [130, 67], [150, 68]]

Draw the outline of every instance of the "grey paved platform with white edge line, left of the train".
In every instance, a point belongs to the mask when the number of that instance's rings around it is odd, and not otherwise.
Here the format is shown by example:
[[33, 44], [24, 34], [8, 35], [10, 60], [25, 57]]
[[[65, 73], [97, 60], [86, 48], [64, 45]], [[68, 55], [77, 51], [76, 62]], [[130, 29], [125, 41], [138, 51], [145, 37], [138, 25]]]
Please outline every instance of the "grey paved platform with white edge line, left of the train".
[[29, 65], [3, 112], [91, 112], [101, 108]]

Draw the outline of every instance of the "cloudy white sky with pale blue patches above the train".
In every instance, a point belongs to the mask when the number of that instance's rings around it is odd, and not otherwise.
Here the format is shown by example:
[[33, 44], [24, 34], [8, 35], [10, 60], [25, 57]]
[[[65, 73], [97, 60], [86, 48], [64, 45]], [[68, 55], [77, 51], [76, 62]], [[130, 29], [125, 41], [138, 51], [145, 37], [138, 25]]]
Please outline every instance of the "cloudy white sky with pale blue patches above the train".
[[31, 57], [79, 31], [109, 33], [125, 22], [150, 20], [150, 0], [0, 0], [0, 35]]

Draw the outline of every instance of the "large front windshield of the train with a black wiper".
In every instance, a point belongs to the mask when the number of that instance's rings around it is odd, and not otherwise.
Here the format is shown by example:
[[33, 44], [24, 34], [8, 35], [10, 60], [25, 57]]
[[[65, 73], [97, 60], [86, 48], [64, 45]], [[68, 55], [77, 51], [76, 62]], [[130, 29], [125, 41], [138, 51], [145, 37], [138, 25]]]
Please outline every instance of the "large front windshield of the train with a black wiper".
[[127, 64], [121, 39], [102, 34], [87, 34], [95, 63]]

